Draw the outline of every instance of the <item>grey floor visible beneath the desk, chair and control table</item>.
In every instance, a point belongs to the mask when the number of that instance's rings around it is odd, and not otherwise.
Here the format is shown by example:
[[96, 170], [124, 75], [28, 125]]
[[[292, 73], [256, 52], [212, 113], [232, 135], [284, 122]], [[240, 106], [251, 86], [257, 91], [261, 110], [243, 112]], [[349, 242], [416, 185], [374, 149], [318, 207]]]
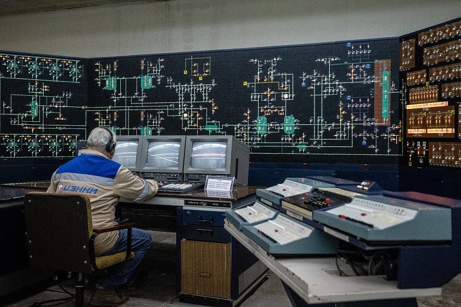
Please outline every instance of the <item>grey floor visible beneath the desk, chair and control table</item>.
[[[130, 299], [121, 306], [124, 307], [195, 307], [200, 305], [179, 302], [178, 292], [175, 287], [175, 249], [176, 234], [174, 232], [151, 231], [153, 244], [151, 250], [146, 253], [140, 267], [148, 270], [148, 279]], [[74, 292], [73, 280], [67, 280], [62, 285]], [[52, 286], [38, 294], [22, 298], [11, 307], [29, 307], [34, 302], [49, 299], [64, 298], [67, 295], [52, 292], [60, 291], [58, 286]], [[85, 292], [85, 300], [88, 302], [91, 290]], [[74, 302], [69, 301], [59, 306], [70, 307]], [[0, 303], [1, 305], [1, 303]], [[442, 288], [442, 295], [418, 298], [420, 307], [458, 307], [461, 306], [461, 274]], [[290, 307], [291, 303], [283, 289], [277, 275], [269, 271], [268, 278], [240, 305], [241, 307]]]

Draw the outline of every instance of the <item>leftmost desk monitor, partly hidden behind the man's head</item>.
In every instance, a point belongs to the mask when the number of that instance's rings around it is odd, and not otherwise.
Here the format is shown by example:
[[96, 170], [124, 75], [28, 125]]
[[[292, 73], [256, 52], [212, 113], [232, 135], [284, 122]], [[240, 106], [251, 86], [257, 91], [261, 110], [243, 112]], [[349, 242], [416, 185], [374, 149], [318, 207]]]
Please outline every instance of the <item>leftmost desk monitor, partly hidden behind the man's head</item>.
[[143, 136], [117, 136], [112, 161], [120, 163], [132, 172], [139, 171]]

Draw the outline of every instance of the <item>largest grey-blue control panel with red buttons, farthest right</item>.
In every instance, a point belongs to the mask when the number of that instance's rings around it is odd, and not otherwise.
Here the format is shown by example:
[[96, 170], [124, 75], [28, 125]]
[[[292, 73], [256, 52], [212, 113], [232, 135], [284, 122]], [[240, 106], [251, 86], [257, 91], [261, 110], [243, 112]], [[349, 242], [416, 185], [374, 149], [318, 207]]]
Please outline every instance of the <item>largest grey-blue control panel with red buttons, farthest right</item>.
[[367, 242], [451, 240], [451, 210], [382, 195], [360, 195], [350, 203], [316, 210], [313, 220]]

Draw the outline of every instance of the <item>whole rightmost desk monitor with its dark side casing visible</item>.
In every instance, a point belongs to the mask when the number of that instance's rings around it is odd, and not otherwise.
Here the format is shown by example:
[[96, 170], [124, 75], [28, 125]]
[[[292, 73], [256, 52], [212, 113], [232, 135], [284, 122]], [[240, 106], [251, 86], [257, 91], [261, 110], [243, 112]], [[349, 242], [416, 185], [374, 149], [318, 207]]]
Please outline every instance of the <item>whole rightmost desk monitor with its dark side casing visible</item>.
[[233, 136], [187, 136], [184, 181], [205, 182], [207, 175], [235, 177], [248, 184], [249, 147]]

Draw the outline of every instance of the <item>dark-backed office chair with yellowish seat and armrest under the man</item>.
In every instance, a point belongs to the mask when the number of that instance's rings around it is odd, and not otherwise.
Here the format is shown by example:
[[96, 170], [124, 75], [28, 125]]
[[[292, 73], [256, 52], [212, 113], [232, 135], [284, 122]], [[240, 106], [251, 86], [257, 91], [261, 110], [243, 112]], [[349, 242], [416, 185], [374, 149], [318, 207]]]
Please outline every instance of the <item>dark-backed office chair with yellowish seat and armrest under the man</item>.
[[[31, 267], [75, 272], [75, 306], [83, 306], [85, 278], [94, 271], [133, 259], [132, 223], [94, 229], [85, 194], [30, 192], [25, 196], [26, 231]], [[94, 239], [104, 232], [128, 229], [126, 252], [96, 257]]]

